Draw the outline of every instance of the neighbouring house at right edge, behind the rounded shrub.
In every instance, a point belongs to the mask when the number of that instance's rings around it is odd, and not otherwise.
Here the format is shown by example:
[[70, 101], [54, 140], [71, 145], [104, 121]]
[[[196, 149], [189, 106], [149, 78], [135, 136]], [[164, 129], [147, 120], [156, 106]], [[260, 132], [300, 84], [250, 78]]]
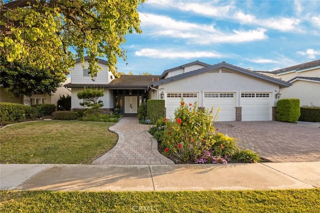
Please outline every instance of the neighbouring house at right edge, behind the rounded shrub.
[[301, 106], [320, 106], [320, 59], [274, 71], [256, 72], [292, 84], [280, 89], [281, 98], [298, 98]]

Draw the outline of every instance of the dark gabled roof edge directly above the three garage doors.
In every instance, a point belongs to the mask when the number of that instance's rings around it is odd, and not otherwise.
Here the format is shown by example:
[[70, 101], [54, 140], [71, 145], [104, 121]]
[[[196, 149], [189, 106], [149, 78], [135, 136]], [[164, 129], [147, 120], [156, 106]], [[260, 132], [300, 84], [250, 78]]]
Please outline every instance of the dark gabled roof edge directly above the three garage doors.
[[189, 77], [189, 76], [193, 76], [193, 75], [196, 75], [196, 74], [200, 74], [200, 73], [203, 73], [203, 72], [207, 72], [207, 71], [211, 71], [211, 70], [219, 69], [219, 68], [228, 68], [228, 69], [231, 69], [231, 70], [243, 73], [243, 74], [247, 74], [247, 75], [250, 75], [250, 76], [253, 76], [253, 77], [260, 78], [262, 80], [266, 80], [266, 81], [269, 81], [269, 82], [273, 82], [273, 83], [279, 84], [281, 87], [288, 87], [288, 86], [291, 85], [290, 83], [288, 83], [286, 81], [283, 81], [283, 80], [280, 80], [280, 79], [276, 79], [276, 78], [273, 78], [273, 77], [269, 77], [269, 76], [266, 76], [264, 74], [260, 74], [260, 73], [254, 72], [254, 71], [250, 71], [248, 69], [244, 69], [244, 68], [241, 68], [241, 67], [238, 67], [238, 66], [234, 66], [234, 65], [226, 63], [224, 61], [221, 62], [221, 63], [217, 63], [217, 64], [214, 64], [214, 65], [207, 66], [207, 67], [203, 67], [203, 68], [200, 68], [200, 69], [197, 69], [197, 70], [194, 70], [194, 71], [185, 72], [185, 73], [178, 74], [178, 75], [175, 75], [175, 76], [172, 76], [172, 77], [168, 77], [168, 78], [162, 78], [159, 81], [154, 81], [152, 83], [152, 85], [153, 86], [161, 85], [163, 83], [168, 83], [168, 82], [172, 82], [172, 81], [175, 81], [175, 80], [180, 80], [180, 79], [183, 79], [183, 78], [186, 78], [186, 77]]

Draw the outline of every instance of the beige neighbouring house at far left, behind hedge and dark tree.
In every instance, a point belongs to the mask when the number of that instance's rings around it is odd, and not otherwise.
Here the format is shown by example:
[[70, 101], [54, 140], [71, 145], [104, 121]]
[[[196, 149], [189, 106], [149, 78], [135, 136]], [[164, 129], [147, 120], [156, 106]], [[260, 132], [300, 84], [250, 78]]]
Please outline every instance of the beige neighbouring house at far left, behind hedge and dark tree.
[[[64, 83], [70, 82], [70, 78], [68, 77]], [[30, 96], [30, 105], [43, 104], [43, 103], [51, 103], [56, 105], [59, 96], [61, 95], [71, 95], [71, 91], [64, 86], [60, 86], [57, 90], [51, 95], [47, 93], [43, 94], [33, 94]], [[0, 102], [11, 102], [11, 103], [20, 103], [24, 104], [23, 95], [20, 97], [13, 97], [10, 92], [4, 90], [3, 86], [0, 86]]]

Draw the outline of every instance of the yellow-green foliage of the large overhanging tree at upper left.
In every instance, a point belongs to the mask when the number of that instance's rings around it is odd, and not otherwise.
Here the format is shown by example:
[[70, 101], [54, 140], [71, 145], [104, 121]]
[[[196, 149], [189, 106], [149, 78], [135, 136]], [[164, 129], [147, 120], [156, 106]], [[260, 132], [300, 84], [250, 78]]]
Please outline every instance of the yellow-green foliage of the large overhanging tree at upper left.
[[125, 60], [120, 44], [127, 32], [141, 32], [137, 6], [144, 1], [0, 0], [0, 58], [59, 74], [86, 54], [93, 77], [96, 57], [105, 55], [110, 67], [117, 56]]

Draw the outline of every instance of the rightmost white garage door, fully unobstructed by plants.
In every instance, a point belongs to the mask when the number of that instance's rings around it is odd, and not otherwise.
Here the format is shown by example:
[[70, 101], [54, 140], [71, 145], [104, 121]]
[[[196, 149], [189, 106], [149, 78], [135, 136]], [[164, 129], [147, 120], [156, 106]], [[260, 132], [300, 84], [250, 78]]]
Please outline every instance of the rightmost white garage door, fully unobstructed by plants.
[[241, 92], [242, 120], [271, 120], [269, 92]]

